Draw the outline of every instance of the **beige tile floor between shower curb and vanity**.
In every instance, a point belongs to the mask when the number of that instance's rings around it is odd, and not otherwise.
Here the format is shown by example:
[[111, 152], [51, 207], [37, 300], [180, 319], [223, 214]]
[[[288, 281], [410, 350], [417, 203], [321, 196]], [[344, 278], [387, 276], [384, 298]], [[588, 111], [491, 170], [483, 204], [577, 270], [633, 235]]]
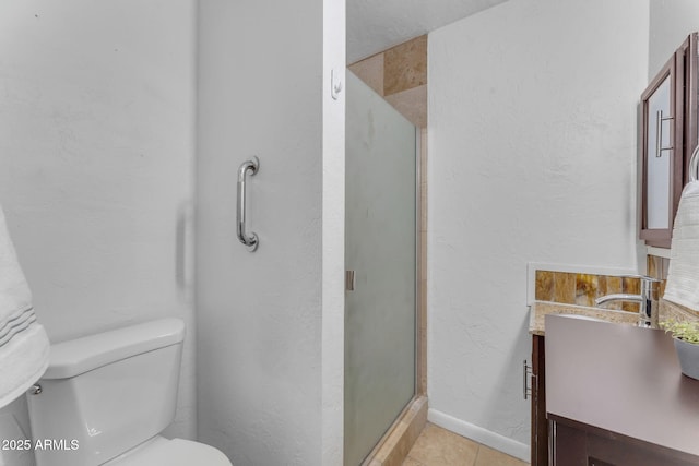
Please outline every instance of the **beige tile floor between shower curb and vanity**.
[[446, 429], [427, 423], [403, 466], [526, 466], [506, 455]]

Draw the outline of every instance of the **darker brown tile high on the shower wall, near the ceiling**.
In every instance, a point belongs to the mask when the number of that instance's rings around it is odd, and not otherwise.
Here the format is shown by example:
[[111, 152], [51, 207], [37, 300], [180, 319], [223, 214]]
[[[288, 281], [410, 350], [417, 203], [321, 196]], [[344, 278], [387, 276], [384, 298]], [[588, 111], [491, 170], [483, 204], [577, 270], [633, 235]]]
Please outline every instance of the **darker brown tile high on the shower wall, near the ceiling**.
[[427, 35], [383, 52], [383, 95], [427, 84]]

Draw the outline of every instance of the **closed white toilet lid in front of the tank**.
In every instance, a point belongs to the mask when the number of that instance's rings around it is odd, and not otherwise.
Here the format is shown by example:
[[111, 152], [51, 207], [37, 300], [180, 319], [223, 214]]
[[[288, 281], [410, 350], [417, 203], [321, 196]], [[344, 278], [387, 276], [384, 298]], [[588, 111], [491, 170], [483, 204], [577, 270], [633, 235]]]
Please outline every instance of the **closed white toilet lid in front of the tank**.
[[232, 466], [221, 451], [191, 440], [157, 438], [104, 466]]

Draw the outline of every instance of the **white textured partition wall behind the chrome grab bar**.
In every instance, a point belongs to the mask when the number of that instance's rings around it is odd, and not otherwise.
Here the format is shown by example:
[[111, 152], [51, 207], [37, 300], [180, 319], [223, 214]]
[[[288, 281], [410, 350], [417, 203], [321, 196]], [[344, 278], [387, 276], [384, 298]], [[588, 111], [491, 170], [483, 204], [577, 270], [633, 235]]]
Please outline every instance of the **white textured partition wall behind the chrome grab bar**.
[[[200, 438], [239, 465], [340, 464], [344, 2], [208, 0], [199, 31]], [[250, 253], [235, 202], [253, 155]]]

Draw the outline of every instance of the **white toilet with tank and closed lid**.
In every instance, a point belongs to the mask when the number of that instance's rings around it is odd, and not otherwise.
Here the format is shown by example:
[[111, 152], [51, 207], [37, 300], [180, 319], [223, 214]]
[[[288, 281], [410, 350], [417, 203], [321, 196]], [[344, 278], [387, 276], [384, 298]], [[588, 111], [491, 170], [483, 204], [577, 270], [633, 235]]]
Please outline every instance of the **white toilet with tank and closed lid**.
[[232, 466], [161, 432], [175, 419], [185, 323], [162, 319], [51, 345], [27, 393], [36, 466]]

